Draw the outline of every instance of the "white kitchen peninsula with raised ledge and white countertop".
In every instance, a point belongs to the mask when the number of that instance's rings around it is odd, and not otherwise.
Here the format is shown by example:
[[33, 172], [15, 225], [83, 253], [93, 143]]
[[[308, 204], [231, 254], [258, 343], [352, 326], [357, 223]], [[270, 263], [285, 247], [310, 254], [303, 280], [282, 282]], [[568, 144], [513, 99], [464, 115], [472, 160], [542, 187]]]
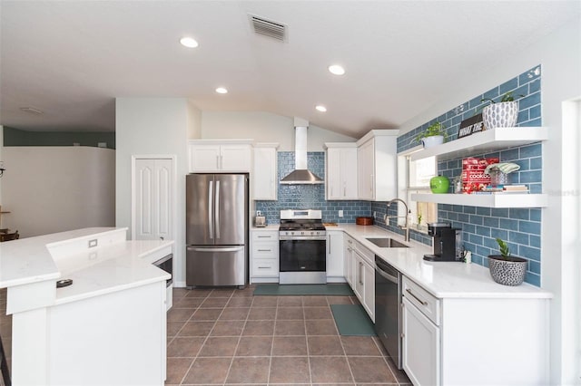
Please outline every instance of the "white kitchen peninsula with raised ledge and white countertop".
[[[126, 232], [94, 227], [0, 245], [14, 385], [163, 384], [171, 275], [153, 263], [173, 242]], [[63, 279], [73, 284], [56, 288]]]

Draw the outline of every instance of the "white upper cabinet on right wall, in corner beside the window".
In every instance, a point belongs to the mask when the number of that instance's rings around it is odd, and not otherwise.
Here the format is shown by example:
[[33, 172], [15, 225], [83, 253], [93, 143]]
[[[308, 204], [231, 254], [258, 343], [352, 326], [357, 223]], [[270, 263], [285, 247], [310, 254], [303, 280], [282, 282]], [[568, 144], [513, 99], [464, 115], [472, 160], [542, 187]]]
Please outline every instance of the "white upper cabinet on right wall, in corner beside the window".
[[371, 130], [357, 141], [359, 199], [387, 201], [397, 197], [399, 130]]

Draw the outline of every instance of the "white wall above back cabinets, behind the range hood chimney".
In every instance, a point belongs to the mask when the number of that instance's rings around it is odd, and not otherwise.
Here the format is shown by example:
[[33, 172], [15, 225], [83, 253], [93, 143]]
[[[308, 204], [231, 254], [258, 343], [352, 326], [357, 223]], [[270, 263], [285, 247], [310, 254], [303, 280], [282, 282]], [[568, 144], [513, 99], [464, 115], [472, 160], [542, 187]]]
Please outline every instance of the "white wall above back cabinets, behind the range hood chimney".
[[[294, 150], [294, 119], [263, 111], [202, 111], [202, 139], [252, 139], [278, 142], [279, 151]], [[310, 125], [308, 150], [323, 151], [324, 142], [354, 138]]]

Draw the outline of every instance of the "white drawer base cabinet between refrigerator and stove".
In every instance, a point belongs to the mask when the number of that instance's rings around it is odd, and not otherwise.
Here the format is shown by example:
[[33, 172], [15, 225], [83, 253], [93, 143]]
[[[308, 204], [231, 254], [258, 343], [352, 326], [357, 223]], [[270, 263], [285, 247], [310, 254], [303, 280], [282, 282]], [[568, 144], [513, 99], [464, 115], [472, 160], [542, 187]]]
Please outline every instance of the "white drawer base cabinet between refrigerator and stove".
[[279, 282], [279, 231], [251, 230], [251, 283]]

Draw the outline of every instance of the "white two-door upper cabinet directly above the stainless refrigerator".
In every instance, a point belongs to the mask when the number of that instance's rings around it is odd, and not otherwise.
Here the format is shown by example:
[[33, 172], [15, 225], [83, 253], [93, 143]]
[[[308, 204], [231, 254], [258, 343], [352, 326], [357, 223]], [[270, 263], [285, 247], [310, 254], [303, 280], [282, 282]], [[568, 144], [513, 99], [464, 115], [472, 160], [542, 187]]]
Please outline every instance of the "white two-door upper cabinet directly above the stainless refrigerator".
[[250, 172], [251, 140], [191, 140], [190, 172]]

